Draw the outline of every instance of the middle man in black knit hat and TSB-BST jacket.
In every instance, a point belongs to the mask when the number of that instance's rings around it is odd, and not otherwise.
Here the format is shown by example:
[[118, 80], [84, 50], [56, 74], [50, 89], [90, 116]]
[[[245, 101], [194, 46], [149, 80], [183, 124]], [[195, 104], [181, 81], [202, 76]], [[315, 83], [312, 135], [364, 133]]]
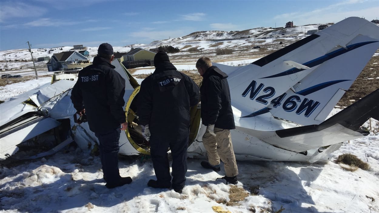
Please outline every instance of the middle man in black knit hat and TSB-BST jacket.
[[187, 172], [189, 109], [199, 100], [199, 87], [187, 75], [178, 72], [168, 55], [159, 51], [154, 57], [155, 71], [141, 83], [139, 90], [139, 124], [146, 140], [157, 180], [153, 188], [170, 188], [168, 149], [172, 155], [172, 188], [181, 193]]

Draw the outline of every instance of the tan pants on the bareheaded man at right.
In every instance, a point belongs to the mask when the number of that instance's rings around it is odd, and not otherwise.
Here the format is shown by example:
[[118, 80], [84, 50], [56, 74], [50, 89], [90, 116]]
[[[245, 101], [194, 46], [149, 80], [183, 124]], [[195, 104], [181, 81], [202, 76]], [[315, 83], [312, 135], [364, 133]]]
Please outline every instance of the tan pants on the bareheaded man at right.
[[203, 144], [207, 150], [208, 163], [219, 165], [220, 159], [224, 162], [224, 169], [227, 177], [238, 175], [236, 158], [233, 151], [232, 138], [229, 129], [219, 129], [215, 127], [216, 137], [207, 130], [203, 135]]

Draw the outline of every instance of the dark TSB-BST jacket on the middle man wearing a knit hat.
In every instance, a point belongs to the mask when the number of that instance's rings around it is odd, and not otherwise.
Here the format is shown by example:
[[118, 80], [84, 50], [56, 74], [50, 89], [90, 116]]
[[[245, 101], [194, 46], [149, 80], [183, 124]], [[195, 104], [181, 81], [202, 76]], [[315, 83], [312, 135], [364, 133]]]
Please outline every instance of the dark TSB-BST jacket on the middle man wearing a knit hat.
[[199, 87], [171, 63], [161, 64], [144, 79], [138, 93], [139, 124], [152, 137], [176, 139], [189, 134], [189, 109], [199, 103]]

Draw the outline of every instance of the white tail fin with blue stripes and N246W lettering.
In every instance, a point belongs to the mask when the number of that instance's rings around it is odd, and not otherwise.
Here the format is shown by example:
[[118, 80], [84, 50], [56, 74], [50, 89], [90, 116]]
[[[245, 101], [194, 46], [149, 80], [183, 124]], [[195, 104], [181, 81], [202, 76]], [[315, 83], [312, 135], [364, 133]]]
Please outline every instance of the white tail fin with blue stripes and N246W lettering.
[[379, 27], [350, 17], [229, 74], [241, 118], [322, 123], [379, 48]]

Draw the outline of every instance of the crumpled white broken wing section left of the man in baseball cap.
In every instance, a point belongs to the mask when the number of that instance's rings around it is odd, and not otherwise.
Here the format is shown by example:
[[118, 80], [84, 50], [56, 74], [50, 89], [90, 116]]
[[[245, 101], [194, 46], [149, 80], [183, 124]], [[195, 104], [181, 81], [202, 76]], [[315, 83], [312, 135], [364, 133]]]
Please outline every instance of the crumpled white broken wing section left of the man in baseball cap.
[[61, 125], [60, 119], [67, 118], [71, 112], [67, 112], [67, 105], [58, 109], [60, 101], [74, 83], [62, 80], [44, 84], [2, 103], [0, 159], [16, 153], [17, 145]]

